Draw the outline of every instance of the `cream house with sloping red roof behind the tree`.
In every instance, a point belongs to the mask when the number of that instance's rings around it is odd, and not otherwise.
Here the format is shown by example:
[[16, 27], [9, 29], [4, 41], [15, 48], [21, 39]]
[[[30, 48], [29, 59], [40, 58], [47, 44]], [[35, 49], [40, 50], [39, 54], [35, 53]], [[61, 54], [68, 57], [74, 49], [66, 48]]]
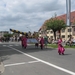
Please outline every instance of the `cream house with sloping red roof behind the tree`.
[[[70, 26], [67, 26], [66, 29], [62, 29], [61, 30], [61, 37], [64, 40], [68, 40], [70, 35], [72, 35], [72, 37], [75, 39], [75, 11], [70, 13], [71, 17], [70, 17]], [[66, 23], [66, 14], [60, 15], [60, 16], [56, 16], [57, 19], [59, 20], [64, 20]], [[51, 18], [50, 18], [51, 19]], [[50, 20], [48, 19], [48, 20]], [[52, 30], [46, 30], [46, 22], [48, 21], [46, 20], [44, 22], [44, 24], [41, 26], [41, 28], [39, 29], [39, 36], [48, 36], [51, 39], [54, 39], [54, 35], [53, 35], [53, 31]], [[59, 33], [56, 32], [56, 37], [58, 37]]]

